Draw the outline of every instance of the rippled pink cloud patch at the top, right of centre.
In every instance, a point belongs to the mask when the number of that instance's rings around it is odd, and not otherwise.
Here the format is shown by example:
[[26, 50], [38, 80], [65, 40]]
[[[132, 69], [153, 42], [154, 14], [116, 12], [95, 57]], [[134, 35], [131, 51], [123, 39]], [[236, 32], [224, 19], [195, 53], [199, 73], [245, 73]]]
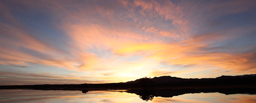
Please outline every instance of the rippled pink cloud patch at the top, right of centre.
[[170, 1], [134, 0], [123, 2], [123, 5], [133, 15], [127, 18], [132, 18], [138, 24], [136, 26], [160, 38], [168, 37], [177, 41], [185, 39], [190, 31], [183, 7]]

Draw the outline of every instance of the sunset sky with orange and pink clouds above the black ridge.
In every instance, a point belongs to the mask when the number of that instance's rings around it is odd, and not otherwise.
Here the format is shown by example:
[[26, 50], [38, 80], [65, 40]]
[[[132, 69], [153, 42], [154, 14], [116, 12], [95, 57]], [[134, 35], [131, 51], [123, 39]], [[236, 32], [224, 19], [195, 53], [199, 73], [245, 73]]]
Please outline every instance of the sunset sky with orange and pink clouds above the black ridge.
[[244, 74], [255, 0], [0, 1], [0, 85]]

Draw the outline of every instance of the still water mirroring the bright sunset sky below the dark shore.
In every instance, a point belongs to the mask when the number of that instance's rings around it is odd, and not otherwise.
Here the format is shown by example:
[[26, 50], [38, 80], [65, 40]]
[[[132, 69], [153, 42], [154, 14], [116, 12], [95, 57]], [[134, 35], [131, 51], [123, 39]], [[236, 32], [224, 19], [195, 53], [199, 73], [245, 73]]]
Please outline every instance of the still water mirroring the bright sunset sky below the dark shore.
[[0, 90], [0, 103], [256, 103], [254, 94], [187, 93], [172, 97], [124, 91]]

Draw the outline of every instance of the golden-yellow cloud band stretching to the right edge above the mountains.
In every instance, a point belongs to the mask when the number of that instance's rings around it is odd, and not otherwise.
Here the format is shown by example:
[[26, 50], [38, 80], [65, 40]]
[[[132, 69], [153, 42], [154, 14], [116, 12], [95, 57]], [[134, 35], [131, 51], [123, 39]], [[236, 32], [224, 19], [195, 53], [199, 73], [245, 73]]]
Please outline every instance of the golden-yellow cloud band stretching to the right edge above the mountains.
[[[216, 42], [220, 39], [223, 39], [221, 35], [209, 34], [173, 44], [130, 44], [113, 50], [113, 52], [122, 55], [142, 55], [145, 58], [156, 59], [169, 65], [190, 65], [186, 68], [204, 67], [207, 69], [206, 67], [211, 67], [210, 69], [212, 69], [215, 67], [235, 73], [255, 70], [254, 53], [225, 53], [205, 49], [211, 48], [211, 41]], [[197, 71], [197, 69], [194, 70]], [[161, 76], [173, 72], [154, 70], [151, 74], [152, 76]]]

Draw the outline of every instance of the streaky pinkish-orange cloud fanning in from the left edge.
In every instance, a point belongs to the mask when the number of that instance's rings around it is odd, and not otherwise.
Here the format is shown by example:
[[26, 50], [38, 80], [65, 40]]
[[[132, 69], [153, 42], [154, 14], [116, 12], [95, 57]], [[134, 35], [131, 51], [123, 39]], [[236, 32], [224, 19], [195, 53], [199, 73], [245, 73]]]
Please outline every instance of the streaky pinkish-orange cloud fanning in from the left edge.
[[[10, 11], [7, 8], [4, 9], [3, 15], [12, 17]], [[47, 41], [39, 40], [14, 17], [12, 20], [7, 18], [5, 20], [8, 22], [0, 23], [2, 32], [0, 35], [0, 64], [26, 67], [29, 66], [29, 63], [34, 63], [62, 67], [73, 71], [78, 71], [79, 64], [86, 64], [72, 57], [76, 52], [70, 53], [50, 45]], [[69, 45], [64, 45], [64, 47], [69, 48]], [[84, 53], [81, 57], [90, 60], [94, 58], [89, 53]]]

